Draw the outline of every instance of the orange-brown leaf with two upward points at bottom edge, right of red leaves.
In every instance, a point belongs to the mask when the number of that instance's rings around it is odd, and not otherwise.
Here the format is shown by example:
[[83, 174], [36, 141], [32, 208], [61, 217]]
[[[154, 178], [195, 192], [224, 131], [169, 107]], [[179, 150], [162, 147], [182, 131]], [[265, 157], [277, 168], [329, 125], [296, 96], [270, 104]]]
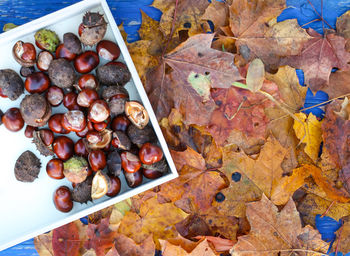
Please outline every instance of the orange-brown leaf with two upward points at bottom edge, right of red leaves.
[[116, 234], [115, 248], [120, 256], [154, 256], [155, 251], [152, 236], [148, 236], [138, 245], [131, 238], [123, 234]]

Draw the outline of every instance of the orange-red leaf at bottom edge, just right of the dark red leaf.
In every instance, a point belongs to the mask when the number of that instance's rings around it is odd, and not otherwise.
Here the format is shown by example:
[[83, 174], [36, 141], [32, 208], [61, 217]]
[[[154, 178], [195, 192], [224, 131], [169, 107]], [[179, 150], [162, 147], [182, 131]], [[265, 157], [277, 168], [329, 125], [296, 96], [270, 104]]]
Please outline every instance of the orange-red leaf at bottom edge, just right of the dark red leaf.
[[94, 249], [97, 256], [104, 256], [106, 249], [113, 246], [116, 232], [109, 228], [109, 218], [104, 218], [96, 224], [88, 224], [88, 240], [84, 243], [86, 249]]

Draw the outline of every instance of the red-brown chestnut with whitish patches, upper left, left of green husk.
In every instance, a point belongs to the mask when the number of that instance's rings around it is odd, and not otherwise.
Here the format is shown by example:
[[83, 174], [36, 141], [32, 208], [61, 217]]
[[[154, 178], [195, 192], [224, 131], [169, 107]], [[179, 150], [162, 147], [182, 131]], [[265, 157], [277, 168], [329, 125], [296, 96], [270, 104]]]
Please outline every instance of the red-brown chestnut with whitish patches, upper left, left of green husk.
[[31, 67], [35, 64], [36, 50], [33, 44], [17, 41], [12, 48], [15, 60], [24, 67]]

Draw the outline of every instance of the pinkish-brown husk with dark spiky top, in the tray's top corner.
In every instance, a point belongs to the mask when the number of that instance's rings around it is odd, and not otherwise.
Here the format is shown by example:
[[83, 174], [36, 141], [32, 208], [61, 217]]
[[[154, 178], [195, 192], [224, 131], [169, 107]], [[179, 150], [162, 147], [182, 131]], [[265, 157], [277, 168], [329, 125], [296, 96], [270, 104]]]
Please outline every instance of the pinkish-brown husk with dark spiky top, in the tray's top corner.
[[87, 12], [83, 17], [82, 26], [80, 41], [88, 46], [100, 42], [107, 31], [107, 22], [98, 12]]

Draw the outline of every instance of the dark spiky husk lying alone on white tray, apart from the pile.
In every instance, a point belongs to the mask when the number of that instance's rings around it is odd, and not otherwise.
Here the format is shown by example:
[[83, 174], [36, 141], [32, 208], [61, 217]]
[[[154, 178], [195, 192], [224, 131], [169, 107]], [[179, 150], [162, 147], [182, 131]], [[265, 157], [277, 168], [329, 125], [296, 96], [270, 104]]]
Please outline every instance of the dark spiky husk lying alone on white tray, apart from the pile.
[[15, 177], [18, 181], [33, 182], [40, 172], [40, 159], [33, 152], [23, 152], [15, 164]]

